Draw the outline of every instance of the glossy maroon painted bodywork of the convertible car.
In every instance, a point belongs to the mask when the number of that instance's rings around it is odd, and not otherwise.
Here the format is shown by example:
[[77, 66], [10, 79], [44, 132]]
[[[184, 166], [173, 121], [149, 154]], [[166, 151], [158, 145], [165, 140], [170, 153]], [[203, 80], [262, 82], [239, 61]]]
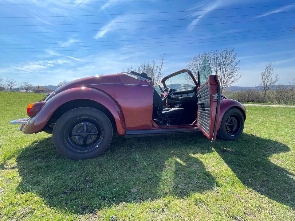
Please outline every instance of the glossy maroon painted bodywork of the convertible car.
[[[189, 70], [183, 69], [164, 77], [161, 81], [164, 87], [166, 87], [166, 79], [171, 76], [175, 76], [184, 70], [188, 72], [197, 86], [197, 81], [195, 80], [193, 74]], [[212, 88], [216, 90], [216, 83], [211, 83], [213, 84]], [[200, 88], [198, 88], [198, 90]], [[43, 106], [38, 108], [38, 111], [33, 116], [33, 118], [29, 119], [22, 129], [22, 132], [25, 134], [32, 134], [42, 131], [58, 107], [68, 101], [75, 99], [89, 99], [106, 107], [114, 117], [116, 129], [120, 135], [126, 134], [126, 130], [196, 127], [195, 124], [185, 126], [174, 125], [159, 126], [157, 128], [153, 127], [152, 83], [149, 81], [135, 79], [123, 73], [119, 73], [115, 75], [93, 76], [77, 79], [57, 88], [53, 94], [49, 95], [49, 97], [45, 99]], [[211, 107], [212, 122], [214, 122], [216, 101], [212, 101]], [[246, 109], [241, 103], [234, 100], [221, 98], [220, 113], [218, 114], [216, 130], [219, 129], [222, 117], [226, 110], [228, 110], [230, 107], [239, 108], [246, 117]], [[212, 126], [214, 126], [214, 124], [212, 124]], [[212, 128], [210, 129], [213, 130]]]

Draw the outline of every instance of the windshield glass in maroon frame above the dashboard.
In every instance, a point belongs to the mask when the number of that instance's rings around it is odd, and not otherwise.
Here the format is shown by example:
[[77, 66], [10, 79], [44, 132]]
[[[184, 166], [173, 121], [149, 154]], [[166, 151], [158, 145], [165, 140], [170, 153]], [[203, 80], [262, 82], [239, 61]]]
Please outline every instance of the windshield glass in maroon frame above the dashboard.
[[165, 84], [167, 87], [170, 87], [176, 90], [183, 90], [183, 89], [192, 88], [196, 86], [193, 79], [186, 71], [168, 78]]

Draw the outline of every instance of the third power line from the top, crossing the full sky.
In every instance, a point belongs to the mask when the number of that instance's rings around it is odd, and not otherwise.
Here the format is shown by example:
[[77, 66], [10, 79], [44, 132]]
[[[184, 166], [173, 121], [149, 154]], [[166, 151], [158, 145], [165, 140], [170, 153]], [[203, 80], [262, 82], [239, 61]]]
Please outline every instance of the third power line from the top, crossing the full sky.
[[[293, 13], [293, 12], [295, 12], [295, 11], [277, 12], [276, 14]], [[0, 27], [56, 26], [56, 25], [98, 25], [98, 24], [136, 23], [136, 22], [153, 22], [153, 21], [183, 21], [183, 20], [194, 20], [194, 19], [225, 18], [225, 17], [243, 17], [243, 16], [268, 15], [268, 14], [273, 14], [273, 13], [250, 14], [250, 15], [230, 15], [230, 16], [218, 16], [218, 17], [201, 17], [201, 18], [180, 18], [180, 19], [149, 20], [149, 21], [116, 21], [116, 22], [74, 23], [74, 24], [44, 24], [44, 25], [0, 25]]]

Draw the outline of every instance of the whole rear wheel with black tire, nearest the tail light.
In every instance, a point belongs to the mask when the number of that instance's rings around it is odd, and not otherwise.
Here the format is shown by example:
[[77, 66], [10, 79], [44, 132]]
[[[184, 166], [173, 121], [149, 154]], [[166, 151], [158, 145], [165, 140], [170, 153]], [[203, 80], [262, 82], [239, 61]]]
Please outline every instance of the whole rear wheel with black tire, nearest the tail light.
[[80, 160], [103, 153], [112, 136], [112, 124], [103, 112], [91, 107], [78, 107], [57, 120], [52, 138], [59, 153]]

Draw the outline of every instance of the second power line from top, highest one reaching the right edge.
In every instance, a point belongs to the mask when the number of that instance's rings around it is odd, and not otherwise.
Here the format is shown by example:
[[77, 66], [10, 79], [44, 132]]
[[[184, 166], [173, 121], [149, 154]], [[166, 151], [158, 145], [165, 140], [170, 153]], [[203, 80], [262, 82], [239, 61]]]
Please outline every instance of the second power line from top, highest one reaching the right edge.
[[81, 16], [104, 16], [104, 15], [132, 15], [132, 14], [161, 14], [161, 13], [178, 13], [178, 12], [197, 12], [197, 11], [215, 11], [215, 10], [234, 10], [234, 9], [250, 9], [250, 8], [264, 8], [264, 7], [276, 7], [276, 6], [292, 6], [288, 5], [273, 5], [273, 6], [253, 6], [253, 7], [241, 7], [241, 8], [224, 8], [224, 9], [203, 9], [203, 10], [187, 10], [187, 11], [167, 11], [167, 12], [139, 12], [139, 13], [119, 13], [119, 14], [92, 14], [92, 15], [53, 15], [53, 16], [21, 16], [21, 17], [0, 17], [0, 18], [36, 18], [36, 17], [81, 17]]

